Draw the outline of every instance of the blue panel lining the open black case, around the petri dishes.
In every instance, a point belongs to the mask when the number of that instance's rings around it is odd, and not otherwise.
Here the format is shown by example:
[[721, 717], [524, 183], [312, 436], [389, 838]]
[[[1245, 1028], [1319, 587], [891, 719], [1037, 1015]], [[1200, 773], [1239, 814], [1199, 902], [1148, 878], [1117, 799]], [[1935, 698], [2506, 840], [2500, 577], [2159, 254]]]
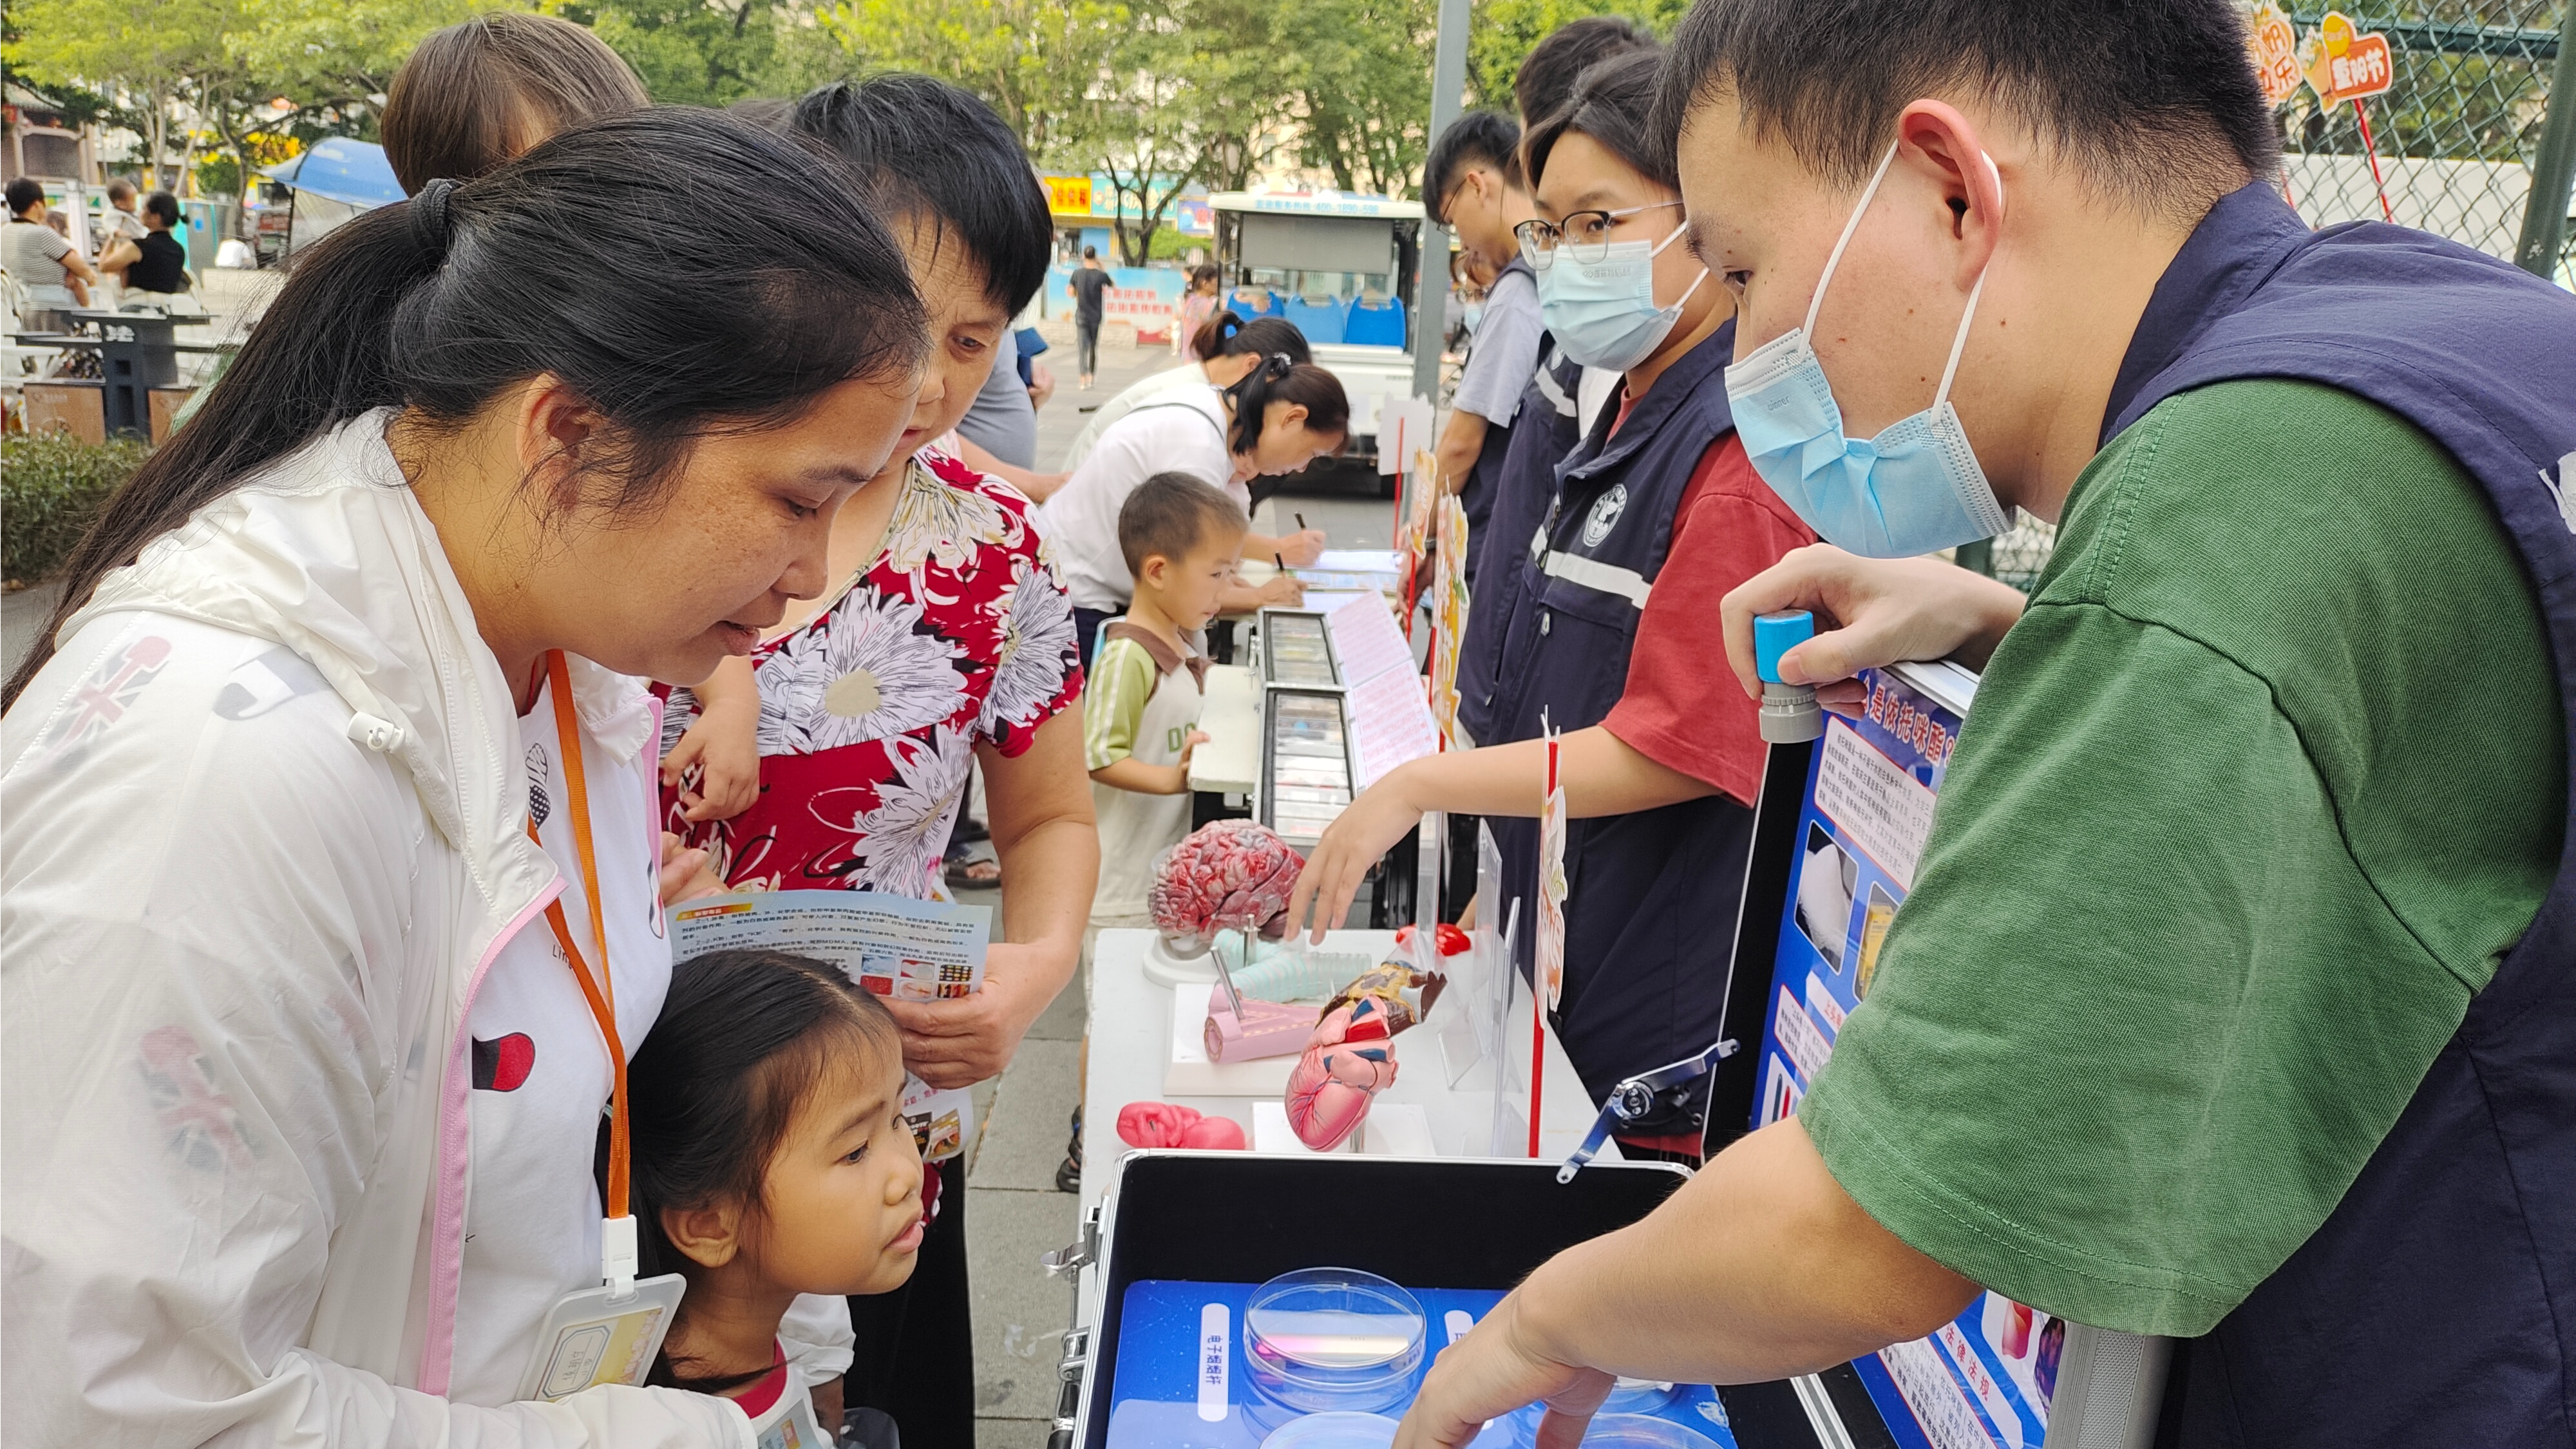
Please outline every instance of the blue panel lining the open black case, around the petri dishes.
[[[1255, 1387], [1244, 1348], [1244, 1310], [1262, 1284], [1208, 1284], [1139, 1279], [1128, 1284], [1121, 1328], [1115, 1397], [1108, 1449], [1262, 1449], [1273, 1436], [1296, 1441], [1296, 1426], [1316, 1431], [1316, 1444], [1383, 1444], [1422, 1387], [1430, 1361], [1466, 1336], [1502, 1289], [1409, 1289], [1427, 1320], [1427, 1343], [1399, 1403], [1373, 1403], [1368, 1413], [1301, 1413], [1267, 1400]], [[1613, 1395], [1587, 1444], [1662, 1444], [1672, 1449], [1736, 1449], [1716, 1390], [1695, 1385], [1636, 1385]], [[1615, 1415], [1615, 1418], [1613, 1418]], [[1535, 1441], [1538, 1413], [1497, 1418], [1473, 1449], [1517, 1449]]]

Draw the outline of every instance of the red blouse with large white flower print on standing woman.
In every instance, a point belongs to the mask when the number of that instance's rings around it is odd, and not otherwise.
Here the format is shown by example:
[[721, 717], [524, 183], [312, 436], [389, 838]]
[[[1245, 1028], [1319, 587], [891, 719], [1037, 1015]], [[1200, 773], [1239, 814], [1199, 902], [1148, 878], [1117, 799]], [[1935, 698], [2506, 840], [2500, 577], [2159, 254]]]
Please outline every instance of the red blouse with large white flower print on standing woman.
[[[752, 655], [760, 799], [693, 825], [734, 890], [884, 890], [943, 897], [940, 856], [976, 743], [1028, 750], [1082, 696], [1074, 608], [1015, 487], [922, 449], [886, 547], [811, 624]], [[675, 688], [662, 750], [696, 724]]]

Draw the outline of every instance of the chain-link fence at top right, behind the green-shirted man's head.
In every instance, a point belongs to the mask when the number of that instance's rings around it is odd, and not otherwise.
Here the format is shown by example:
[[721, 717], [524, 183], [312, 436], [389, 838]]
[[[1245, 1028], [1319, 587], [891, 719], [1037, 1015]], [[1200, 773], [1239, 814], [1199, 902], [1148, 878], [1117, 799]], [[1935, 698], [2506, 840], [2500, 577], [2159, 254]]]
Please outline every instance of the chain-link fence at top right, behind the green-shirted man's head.
[[[2532, 217], [2535, 168], [2561, 209], [2550, 266], [2576, 286], [2576, 227], [2566, 227], [2566, 155], [2543, 144], [2550, 83], [2566, 44], [2566, 0], [2362, 0], [2336, 26], [2326, 10], [2287, 10], [2298, 62], [2331, 85], [2334, 62], [2385, 75], [2388, 90], [2326, 106], [2316, 85], [2280, 103], [2282, 188], [2313, 227], [2398, 222], [2504, 260], [2550, 232]], [[2385, 41], [2385, 70], [2375, 70]], [[2561, 106], [2576, 98], [2561, 101]], [[2561, 119], [2561, 129], [2568, 121]], [[2566, 150], [2563, 142], [2558, 147]], [[2550, 186], [2548, 173], [2561, 173]], [[2550, 201], [2555, 199], [2555, 201]]]

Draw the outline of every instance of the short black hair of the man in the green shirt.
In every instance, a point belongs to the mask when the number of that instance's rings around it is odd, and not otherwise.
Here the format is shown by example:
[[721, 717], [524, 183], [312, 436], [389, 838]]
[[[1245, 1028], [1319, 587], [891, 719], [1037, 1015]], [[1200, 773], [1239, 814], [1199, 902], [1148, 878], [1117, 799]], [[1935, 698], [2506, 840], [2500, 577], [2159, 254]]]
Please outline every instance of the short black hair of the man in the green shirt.
[[2105, 193], [2200, 217], [2269, 175], [2280, 131], [2236, 0], [1698, 0], [1672, 39], [1656, 131], [1734, 101], [1819, 175], [1860, 186], [1922, 95], [1976, 93]]

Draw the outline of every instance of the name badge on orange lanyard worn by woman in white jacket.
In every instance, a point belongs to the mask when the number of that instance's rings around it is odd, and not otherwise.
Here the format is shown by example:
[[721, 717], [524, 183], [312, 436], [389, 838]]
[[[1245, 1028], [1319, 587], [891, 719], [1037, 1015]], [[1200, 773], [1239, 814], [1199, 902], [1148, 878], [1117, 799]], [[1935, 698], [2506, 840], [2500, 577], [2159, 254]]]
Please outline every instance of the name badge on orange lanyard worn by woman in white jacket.
[[[582, 861], [582, 892], [590, 902], [590, 938], [600, 949], [600, 969], [592, 975], [582, 949], [572, 941], [562, 895], [546, 902], [546, 926], [554, 928], [554, 944], [572, 964], [572, 977], [582, 982], [582, 1000], [590, 1006], [590, 1018], [600, 1026], [600, 1044], [608, 1049], [608, 1194], [600, 1220], [600, 1281], [572, 1289], [546, 1312], [536, 1356], [518, 1382], [523, 1400], [559, 1400], [595, 1385], [641, 1385], [662, 1354], [662, 1336], [670, 1333], [672, 1312], [688, 1289], [680, 1274], [636, 1279], [636, 1220], [626, 1209], [629, 1165], [634, 1163], [626, 1137], [626, 1044], [618, 1042], [618, 998], [608, 975], [608, 926], [600, 908], [600, 861], [590, 843], [582, 732], [572, 712], [572, 670], [564, 665], [562, 650], [546, 652], [546, 688], [554, 696], [554, 740], [564, 763], [564, 792], [572, 797], [572, 843]], [[536, 820], [528, 820], [528, 838], [536, 841]], [[775, 1449], [791, 1444], [799, 1441], [788, 1439]], [[804, 1439], [804, 1444], [824, 1441]], [[762, 1449], [773, 1446], [762, 1441]]]

